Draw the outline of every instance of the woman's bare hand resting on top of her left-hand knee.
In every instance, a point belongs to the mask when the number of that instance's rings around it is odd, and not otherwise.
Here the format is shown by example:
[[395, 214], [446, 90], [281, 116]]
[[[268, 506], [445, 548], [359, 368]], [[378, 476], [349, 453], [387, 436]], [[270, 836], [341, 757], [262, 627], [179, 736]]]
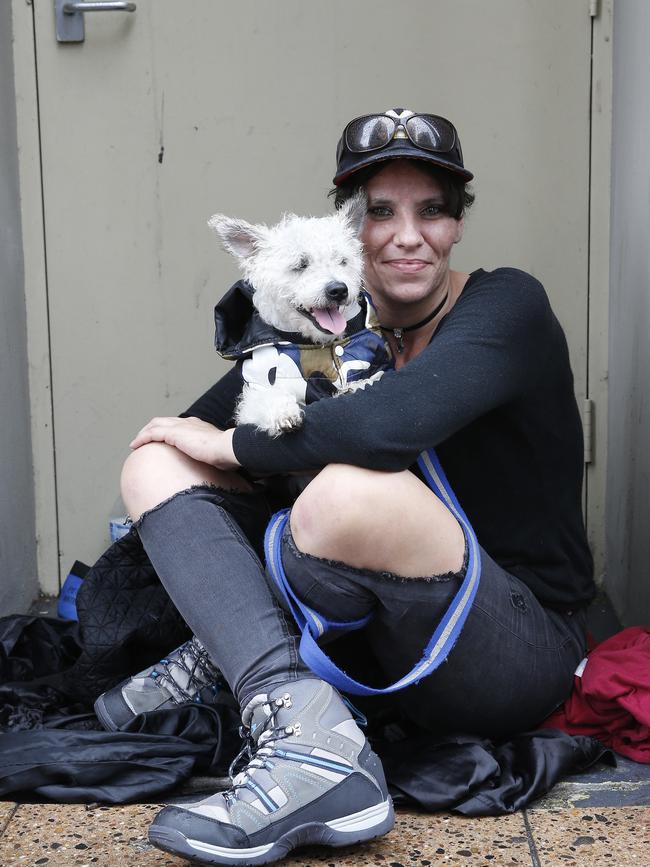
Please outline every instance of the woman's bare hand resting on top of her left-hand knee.
[[167, 443], [196, 461], [221, 470], [233, 470], [241, 466], [232, 450], [233, 430], [219, 430], [198, 418], [152, 418], [129, 447], [137, 449], [145, 443]]

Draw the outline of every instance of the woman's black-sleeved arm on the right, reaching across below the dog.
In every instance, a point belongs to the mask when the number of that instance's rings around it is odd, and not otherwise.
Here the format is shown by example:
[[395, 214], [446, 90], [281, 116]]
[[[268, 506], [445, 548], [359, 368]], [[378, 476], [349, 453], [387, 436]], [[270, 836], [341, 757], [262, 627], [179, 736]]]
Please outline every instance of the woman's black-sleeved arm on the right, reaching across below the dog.
[[237, 428], [234, 456], [251, 472], [328, 463], [405, 469], [423, 449], [534, 386], [559, 339], [537, 280], [515, 269], [485, 274], [399, 372], [356, 394], [311, 404], [296, 432], [274, 439], [250, 425]]

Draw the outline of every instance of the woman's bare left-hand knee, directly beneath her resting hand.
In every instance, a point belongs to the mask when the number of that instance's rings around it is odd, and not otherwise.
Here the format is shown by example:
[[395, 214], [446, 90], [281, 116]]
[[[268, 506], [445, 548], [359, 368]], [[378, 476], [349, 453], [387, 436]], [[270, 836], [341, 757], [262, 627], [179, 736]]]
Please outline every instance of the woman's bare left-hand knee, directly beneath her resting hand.
[[131, 452], [120, 479], [124, 505], [134, 520], [179, 491], [202, 484], [250, 489], [235, 473], [195, 461], [167, 443], [147, 443]]

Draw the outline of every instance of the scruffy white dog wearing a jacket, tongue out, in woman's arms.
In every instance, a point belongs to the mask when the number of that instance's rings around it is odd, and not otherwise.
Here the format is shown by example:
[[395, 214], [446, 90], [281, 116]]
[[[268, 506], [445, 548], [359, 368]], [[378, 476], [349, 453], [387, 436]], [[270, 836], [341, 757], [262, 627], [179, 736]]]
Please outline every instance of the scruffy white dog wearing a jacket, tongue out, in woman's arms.
[[306, 403], [363, 387], [390, 366], [361, 291], [366, 207], [361, 193], [327, 217], [208, 221], [244, 276], [215, 309], [217, 350], [237, 360], [244, 381], [239, 424], [277, 436], [300, 427]]

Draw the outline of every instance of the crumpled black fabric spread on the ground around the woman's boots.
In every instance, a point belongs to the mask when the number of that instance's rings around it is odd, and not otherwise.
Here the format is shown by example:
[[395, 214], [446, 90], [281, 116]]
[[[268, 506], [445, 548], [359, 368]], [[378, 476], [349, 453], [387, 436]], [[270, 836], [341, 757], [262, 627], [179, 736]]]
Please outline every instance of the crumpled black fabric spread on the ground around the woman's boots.
[[[101, 692], [189, 637], [135, 531], [92, 567], [77, 610], [78, 624], [0, 618], [0, 797], [117, 804], [225, 775], [240, 746], [228, 693], [143, 714], [120, 732], [103, 731], [92, 711]], [[415, 732], [382, 713], [368, 735], [396, 803], [471, 816], [513, 812], [567, 774], [614, 763], [598, 741], [553, 729], [496, 744]]]

